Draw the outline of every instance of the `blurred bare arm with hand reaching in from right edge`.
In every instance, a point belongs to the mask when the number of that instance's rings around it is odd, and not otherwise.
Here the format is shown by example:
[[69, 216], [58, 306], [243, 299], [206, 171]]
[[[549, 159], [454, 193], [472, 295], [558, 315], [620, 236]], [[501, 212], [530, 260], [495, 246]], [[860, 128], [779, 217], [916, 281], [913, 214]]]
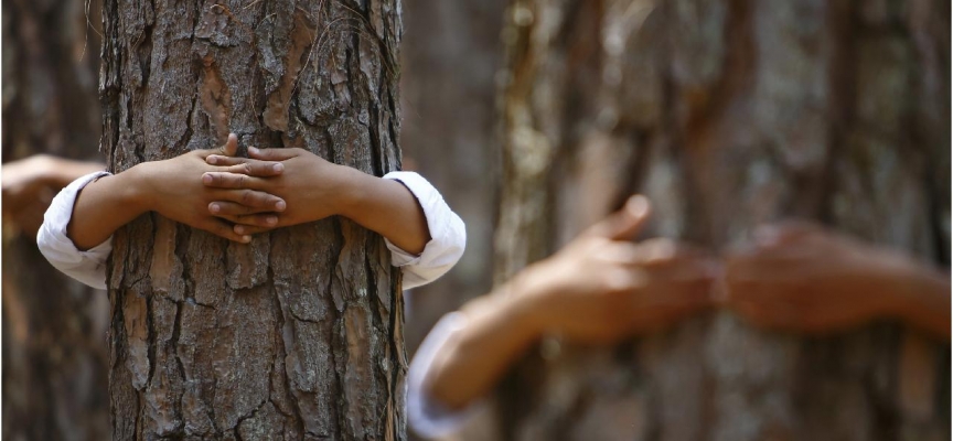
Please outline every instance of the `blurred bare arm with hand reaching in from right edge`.
[[897, 319], [950, 340], [950, 275], [820, 225], [759, 232], [726, 271], [727, 304], [754, 325], [828, 333]]

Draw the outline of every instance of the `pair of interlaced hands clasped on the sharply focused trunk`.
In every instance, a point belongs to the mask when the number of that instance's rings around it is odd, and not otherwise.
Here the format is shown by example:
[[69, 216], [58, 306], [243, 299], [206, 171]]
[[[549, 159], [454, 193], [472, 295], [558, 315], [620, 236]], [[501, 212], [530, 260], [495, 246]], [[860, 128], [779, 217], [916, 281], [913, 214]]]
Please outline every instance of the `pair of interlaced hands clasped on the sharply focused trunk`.
[[[238, 140], [149, 163], [149, 207], [176, 222], [248, 243], [250, 235], [339, 214], [347, 173], [302, 149], [248, 149]], [[201, 176], [201, 178], [200, 178]], [[314, 204], [313, 201], [322, 201]]]

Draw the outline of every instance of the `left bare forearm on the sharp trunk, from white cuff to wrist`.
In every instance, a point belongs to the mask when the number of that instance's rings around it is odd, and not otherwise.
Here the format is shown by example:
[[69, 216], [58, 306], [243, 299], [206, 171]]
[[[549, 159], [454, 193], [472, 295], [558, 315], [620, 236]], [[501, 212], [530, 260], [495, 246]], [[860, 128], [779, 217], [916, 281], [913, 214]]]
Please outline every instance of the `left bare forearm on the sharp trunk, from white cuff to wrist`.
[[141, 170], [137, 165], [122, 173], [90, 182], [76, 196], [66, 234], [76, 248], [93, 248], [149, 211], [142, 197]]

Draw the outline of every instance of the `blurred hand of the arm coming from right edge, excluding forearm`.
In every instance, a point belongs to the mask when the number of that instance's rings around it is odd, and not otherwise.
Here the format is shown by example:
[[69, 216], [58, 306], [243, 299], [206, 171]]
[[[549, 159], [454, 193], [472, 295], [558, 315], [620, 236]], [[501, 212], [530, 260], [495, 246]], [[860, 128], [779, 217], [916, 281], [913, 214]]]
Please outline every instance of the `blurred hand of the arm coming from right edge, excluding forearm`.
[[888, 313], [906, 268], [898, 255], [815, 224], [765, 226], [753, 247], [728, 256], [727, 304], [757, 326], [846, 329]]

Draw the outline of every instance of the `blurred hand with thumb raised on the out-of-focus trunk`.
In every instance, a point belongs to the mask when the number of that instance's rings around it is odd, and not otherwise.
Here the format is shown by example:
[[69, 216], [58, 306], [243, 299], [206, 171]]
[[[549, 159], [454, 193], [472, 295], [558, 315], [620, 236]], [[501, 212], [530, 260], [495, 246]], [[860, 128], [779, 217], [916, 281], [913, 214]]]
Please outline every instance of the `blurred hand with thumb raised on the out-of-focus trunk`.
[[625, 207], [590, 227], [549, 259], [513, 281], [528, 320], [543, 333], [582, 343], [613, 343], [664, 327], [711, 304], [713, 263], [668, 239], [640, 244], [649, 202]]

